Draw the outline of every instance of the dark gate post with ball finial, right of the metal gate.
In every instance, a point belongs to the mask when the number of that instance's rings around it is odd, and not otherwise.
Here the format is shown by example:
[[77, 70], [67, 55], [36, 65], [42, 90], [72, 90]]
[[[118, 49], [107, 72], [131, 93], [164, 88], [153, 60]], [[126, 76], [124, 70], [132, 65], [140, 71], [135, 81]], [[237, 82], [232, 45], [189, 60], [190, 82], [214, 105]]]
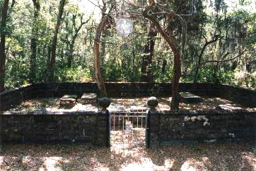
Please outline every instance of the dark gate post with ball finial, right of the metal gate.
[[147, 103], [150, 109], [146, 120], [146, 148], [152, 148], [159, 146], [160, 114], [156, 109], [158, 98], [150, 97]]

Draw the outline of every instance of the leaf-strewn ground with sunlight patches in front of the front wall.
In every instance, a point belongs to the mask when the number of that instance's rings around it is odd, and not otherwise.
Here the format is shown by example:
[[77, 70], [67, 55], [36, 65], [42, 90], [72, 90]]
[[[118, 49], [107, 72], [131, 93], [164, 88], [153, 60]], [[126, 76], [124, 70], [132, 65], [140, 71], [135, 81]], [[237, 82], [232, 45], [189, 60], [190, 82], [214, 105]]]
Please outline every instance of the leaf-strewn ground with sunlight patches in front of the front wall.
[[255, 142], [196, 143], [146, 149], [143, 145], [6, 145], [0, 170], [254, 171]]

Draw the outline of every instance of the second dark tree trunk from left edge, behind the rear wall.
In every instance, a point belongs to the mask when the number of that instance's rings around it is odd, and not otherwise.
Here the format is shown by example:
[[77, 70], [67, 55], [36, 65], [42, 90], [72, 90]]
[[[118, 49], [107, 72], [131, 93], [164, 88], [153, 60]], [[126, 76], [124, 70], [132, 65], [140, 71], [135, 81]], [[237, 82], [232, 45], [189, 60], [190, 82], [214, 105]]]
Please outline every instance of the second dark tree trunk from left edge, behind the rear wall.
[[30, 56], [30, 82], [34, 83], [36, 79], [36, 49], [38, 43], [38, 15], [40, 10], [40, 4], [38, 0], [33, 0], [34, 4], [34, 18], [32, 23], [31, 33], [31, 56]]

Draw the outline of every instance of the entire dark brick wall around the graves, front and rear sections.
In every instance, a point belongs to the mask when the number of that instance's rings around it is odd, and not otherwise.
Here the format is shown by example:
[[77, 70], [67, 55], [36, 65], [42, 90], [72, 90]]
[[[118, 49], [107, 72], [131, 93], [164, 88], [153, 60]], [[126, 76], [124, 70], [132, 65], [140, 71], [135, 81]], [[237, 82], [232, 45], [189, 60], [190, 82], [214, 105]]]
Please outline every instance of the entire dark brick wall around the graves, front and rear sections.
[[[171, 84], [106, 83], [109, 97], [168, 95]], [[207, 94], [256, 107], [256, 93], [220, 84], [181, 83], [180, 92]], [[0, 93], [0, 111], [6, 111], [26, 99], [98, 92], [95, 83], [32, 84]], [[205, 116], [205, 120], [201, 117]], [[255, 138], [255, 113], [148, 114], [148, 146], [186, 141]], [[94, 112], [0, 113], [0, 144], [4, 142], [89, 142], [109, 146], [109, 115]], [[201, 118], [201, 120], [199, 119]], [[206, 122], [207, 120], [207, 122]], [[2, 133], [1, 133], [2, 132]]]

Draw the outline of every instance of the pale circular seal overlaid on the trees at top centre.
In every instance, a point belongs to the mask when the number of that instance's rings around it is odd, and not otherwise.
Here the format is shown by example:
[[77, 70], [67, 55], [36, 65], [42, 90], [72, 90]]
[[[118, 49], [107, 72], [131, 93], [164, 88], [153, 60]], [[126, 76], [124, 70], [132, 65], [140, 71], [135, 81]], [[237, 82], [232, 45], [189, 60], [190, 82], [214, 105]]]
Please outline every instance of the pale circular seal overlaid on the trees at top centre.
[[116, 31], [119, 35], [127, 37], [134, 31], [132, 21], [127, 18], [118, 18], [116, 22]]

